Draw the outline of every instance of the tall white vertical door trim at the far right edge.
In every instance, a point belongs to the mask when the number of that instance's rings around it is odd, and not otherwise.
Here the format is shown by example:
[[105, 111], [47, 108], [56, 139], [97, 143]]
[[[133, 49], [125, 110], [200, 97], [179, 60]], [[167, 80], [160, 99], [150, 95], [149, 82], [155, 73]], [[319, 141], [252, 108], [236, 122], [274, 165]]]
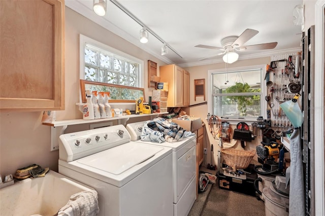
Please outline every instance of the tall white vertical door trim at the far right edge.
[[315, 215], [324, 215], [324, 8], [315, 4]]

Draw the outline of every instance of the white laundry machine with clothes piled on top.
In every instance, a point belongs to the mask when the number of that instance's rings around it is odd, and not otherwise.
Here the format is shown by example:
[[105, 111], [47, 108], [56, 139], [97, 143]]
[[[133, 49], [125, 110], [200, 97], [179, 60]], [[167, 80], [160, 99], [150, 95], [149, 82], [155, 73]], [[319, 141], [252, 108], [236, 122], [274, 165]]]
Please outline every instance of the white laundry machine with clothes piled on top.
[[196, 200], [196, 136], [184, 138], [178, 142], [142, 141], [140, 135], [144, 122], [130, 123], [126, 129], [131, 140], [139, 144], [146, 143], [173, 149], [173, 215], [187, 215]]

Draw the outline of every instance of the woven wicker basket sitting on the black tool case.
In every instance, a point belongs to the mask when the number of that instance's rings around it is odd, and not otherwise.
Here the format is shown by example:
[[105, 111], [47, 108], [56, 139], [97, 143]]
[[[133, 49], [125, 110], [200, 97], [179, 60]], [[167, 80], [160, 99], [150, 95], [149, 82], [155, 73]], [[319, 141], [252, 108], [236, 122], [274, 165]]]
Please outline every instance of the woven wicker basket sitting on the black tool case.
[[255, 155], [255, 150], [243, 151], [237, 149], [221, 149], [221, 154], [225, 164], [231, 167], [246, 169], [249, 166], [251, 159]]

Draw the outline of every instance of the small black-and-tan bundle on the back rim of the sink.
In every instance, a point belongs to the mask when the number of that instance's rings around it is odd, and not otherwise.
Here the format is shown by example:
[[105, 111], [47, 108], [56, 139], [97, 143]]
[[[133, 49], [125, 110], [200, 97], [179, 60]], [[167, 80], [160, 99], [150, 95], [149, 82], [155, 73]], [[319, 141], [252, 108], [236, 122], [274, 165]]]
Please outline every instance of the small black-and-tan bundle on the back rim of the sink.
[[32, 164], [20, 169], [17, 169], [14, 178], [18, 180], [26, 179], [29, 177], [44, 177], [49, 171], [49, 168], [42, 168], [40, 165]]

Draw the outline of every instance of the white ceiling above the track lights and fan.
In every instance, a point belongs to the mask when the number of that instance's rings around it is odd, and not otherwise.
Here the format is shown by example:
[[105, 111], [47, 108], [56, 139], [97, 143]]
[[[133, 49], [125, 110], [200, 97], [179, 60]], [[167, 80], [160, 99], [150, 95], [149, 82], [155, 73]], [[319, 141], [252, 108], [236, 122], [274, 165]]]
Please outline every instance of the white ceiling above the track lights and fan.
[[211, 59], [218, 50], [194, 47], [198, 44], [221, 47], [221, 39], [239, 36], [245, 29], [258, 30], [246, 46], [278, 42], [271, 50], [241, 51], [240, 59], [270, 56], [277, 52], [300, 49], [302, 26], [293, 24], [293, 11], [302, 0], [233, 1], [233, 0], [117, 0], [125, 9], [156, 33], [179, 55], [169, 49], [160, 55], [163, 43], [149, 33], [149, 42], [139, 41], [142, 26], [108, 0], [104, 17], [92, 11], [92, 0], [66, 0], [66, 6], [102, 25], [125, 40], [167, 62], [180, 66], [202, 65], [222, 61], [222, 55]]

